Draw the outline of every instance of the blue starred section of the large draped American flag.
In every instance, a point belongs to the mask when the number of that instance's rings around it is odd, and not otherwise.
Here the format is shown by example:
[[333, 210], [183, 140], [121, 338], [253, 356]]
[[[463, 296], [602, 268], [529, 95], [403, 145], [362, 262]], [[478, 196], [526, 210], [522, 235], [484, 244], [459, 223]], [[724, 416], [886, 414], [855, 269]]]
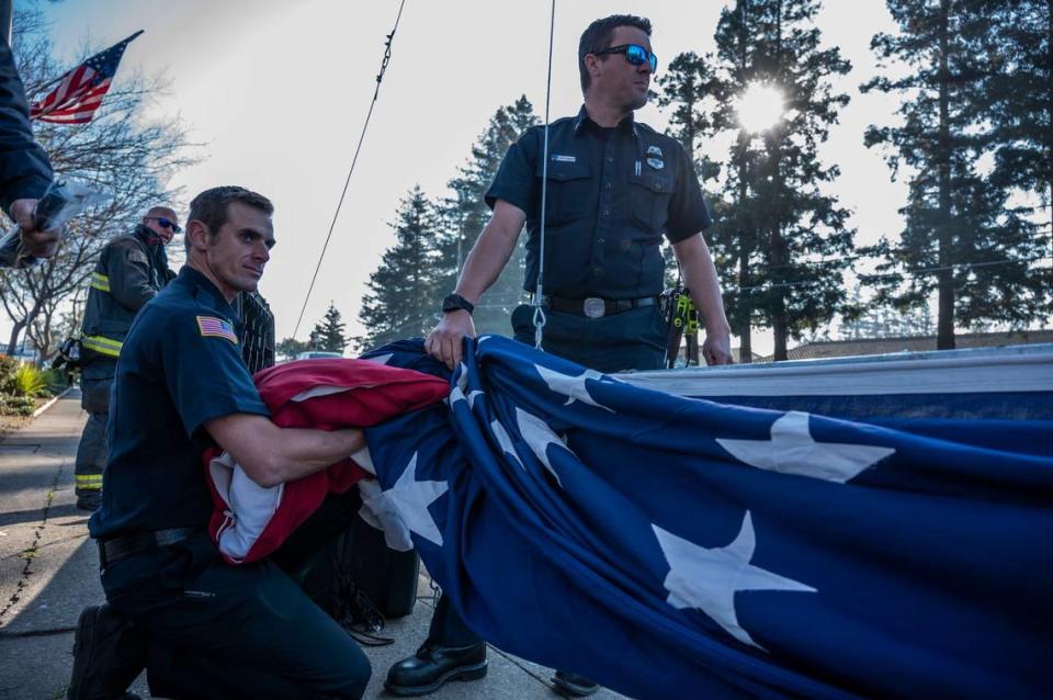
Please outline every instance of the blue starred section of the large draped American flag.
[[[366, 357], [449, 376], [420, 340]], [[354, 459], [473, 631], [633, 698], [1050, 698], [1048, 409], [785, 398], [683, 398], [482, 336], [449, 406], [367, 428]]]

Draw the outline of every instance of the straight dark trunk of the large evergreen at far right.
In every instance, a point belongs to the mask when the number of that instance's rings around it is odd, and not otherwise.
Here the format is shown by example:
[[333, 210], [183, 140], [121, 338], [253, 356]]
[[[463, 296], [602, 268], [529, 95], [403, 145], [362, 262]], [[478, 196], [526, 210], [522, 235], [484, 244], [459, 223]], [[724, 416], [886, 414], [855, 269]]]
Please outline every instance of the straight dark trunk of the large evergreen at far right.
[[940, 215], [937, 221], [938, 267], [937, 290], [939, 316], [936, 330], [937, 350], [954, 349], [954, 270], [951, 253], [951, 143], [950, 115], [948, 102], [948, 23], [950, 0], [940, 0], [940, 135], [939, 135], [939, 202]]

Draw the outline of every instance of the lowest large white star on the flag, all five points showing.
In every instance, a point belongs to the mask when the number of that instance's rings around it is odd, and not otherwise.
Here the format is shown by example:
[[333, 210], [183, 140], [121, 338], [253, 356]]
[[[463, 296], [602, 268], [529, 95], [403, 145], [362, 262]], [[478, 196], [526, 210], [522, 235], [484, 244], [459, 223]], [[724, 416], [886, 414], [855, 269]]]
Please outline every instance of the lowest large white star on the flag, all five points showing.
[[746, 512], [735, 541], [723, 547], [704, 547], [652, 523], [658, 545], [669, 564], [664, 585], [666, 602], [678, 610], [695, 608], [711, 617], [739, 642], [765, 650], [738, 624], [735, 594], [739, 590], [796, 590], [815, 588], [754, 566], [749, 561], [757, 547], [754, 522]]

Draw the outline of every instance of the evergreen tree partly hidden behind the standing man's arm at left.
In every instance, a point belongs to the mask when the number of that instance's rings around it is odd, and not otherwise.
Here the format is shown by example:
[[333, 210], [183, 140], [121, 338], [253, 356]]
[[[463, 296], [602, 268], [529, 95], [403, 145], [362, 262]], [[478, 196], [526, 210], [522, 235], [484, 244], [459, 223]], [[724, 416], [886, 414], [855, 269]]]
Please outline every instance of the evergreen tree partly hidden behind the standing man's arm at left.
[[[486, 131], [472, 147], [472, 157], [449, 187], [453, 196], [443, 203], [442, 221], [445, 235], [441, 246], [439, 274], [432, 308], [456, 286], [464, 258], [490, 218], [484, 195], [497, 176], [497, 170], [509, 147], [529, 127], [537, 123], [534, 108], [525, 95], [497, 110]], [[516, 247], [500, 278], [479, 300], [476, 306], [475, 328], [478, 332], [508, 335], [509, 316], [522, 297], [525, 248]]]

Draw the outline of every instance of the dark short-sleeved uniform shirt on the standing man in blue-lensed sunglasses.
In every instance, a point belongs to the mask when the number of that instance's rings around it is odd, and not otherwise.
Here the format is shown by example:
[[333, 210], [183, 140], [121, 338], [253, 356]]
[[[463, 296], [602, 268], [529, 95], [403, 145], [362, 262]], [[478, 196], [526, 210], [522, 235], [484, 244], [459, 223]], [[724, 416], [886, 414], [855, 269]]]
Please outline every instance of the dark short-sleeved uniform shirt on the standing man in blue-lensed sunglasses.
[[[544, 126], [509, 148], [486, 202], [526, 213], [526, 279], [537, 284]], [[660, 244], [711, 224], [688, 154], [636, 123], [632, 114], [604, 129], [585, 108], [548, 127], [544, 292], [566, 298], [653, 296], [664, 285]]]

